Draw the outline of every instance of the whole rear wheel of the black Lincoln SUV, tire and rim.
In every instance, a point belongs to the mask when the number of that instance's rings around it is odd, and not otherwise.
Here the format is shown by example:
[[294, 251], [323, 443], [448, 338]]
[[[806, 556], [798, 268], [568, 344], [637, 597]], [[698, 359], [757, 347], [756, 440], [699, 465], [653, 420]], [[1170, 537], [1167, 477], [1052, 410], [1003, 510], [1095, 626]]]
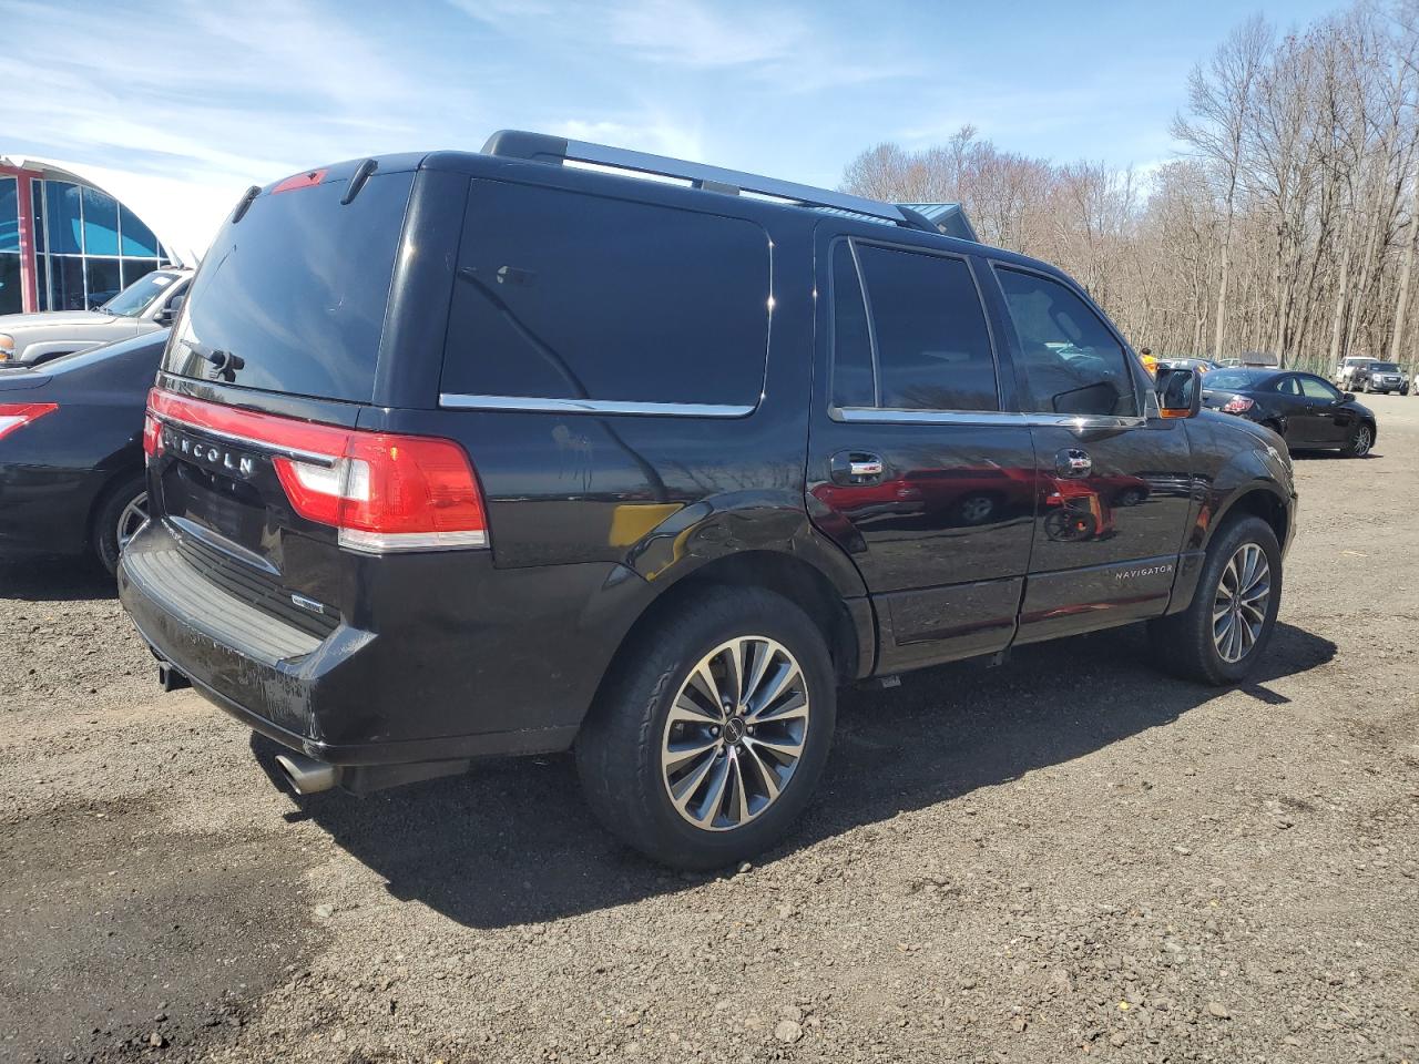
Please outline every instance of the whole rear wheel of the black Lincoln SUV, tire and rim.
[[823, 636], [792, 602], [759, 589], [695, 594], [626, 645], [597, 695], [576, 739], [587, 804], [661, 864], [752, 857], [813, 796], [836, 688]]

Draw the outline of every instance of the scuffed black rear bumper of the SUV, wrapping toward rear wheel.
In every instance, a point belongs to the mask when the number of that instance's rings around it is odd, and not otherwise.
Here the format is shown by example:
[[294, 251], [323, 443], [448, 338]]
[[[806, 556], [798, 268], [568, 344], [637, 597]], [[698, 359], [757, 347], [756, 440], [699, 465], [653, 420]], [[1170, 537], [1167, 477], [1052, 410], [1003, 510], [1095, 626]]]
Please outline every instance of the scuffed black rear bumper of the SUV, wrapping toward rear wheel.
[[495, 570], [485, 552], [352, 563], [373, 567], [359, 575], [370, 599], [359, 614], [377, 631], [342, 620], [311, 634], [260, 610], [204, 579], [160, 521], [123, 552], [118, 589], [155, 654], [309, 758], [412, 765], [570, 746], [620, 633], [595, 610], [568, 631], [566, 596], [595, 596], [602, 566], [558, 566], [597, 572], [559, 573], [551, 587], [546, 575]]

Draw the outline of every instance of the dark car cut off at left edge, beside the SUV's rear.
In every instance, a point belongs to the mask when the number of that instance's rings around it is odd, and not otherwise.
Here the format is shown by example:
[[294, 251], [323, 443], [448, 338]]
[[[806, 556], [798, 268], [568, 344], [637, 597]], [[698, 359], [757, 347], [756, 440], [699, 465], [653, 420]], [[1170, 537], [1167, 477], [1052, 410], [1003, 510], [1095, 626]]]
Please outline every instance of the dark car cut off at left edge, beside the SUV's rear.
[[0, 369], [0, 558], [92, 552], [148, 519], [143, 406], [167, 331]]

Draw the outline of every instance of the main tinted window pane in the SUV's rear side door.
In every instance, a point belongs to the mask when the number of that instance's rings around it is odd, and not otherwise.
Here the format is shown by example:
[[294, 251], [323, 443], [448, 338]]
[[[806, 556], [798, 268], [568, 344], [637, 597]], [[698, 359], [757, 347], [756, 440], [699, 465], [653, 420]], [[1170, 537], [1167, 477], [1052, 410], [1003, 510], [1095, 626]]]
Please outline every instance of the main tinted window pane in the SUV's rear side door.
[[[965, 260], [868, 244], [857, 245], [857, 255], [876, 343], [877, 404], [999, 410], [990, 333]], [[834, 268], [840, 264], [846, 270], [850, 258], [836, 258]]]

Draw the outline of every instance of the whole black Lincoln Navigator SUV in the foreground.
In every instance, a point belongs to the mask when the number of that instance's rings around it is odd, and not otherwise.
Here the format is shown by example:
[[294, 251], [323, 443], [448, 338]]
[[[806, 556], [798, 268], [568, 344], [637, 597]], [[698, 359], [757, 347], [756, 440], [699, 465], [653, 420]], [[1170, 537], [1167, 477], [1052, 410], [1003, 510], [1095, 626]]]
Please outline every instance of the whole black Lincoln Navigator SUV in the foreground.
[[840, 682], [1144, 620], [1232, 682], [1271, 634], [1284, 448], [912, 209], [499, 133], [253, 189], [206, 262], [119, 590], [302, 792], [572, 748], [717, 867]]

